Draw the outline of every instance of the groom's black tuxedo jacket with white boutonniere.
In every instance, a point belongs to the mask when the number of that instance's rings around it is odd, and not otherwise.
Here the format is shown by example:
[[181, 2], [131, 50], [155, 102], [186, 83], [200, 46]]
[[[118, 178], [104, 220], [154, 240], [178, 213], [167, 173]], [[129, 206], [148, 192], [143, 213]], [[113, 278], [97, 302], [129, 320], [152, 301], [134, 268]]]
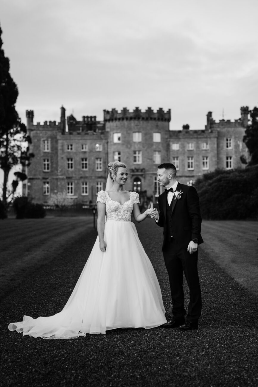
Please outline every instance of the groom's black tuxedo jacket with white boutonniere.
[[[172, 219], [172, 236], [181, 245], [186, 248], [193, 238], [198, 238], [198, 245], [203, 243], [201, 237], [201, 212], [200, 200], [197, 191], [194, 187], [177, 184], [176, 191], [182, 191], [181, 198], [176, 199], [175, 195], [172, 199], [171, 219]], [[158, 226], [163, 227], [163, 245], [167, 242], [167, 228], [169, 228], [169, 219], [166, 219], [166, 205], [167, 194], [163, 192], [158, 197], [158, 206], [160, 209], [160, 216], [158, 219]]]

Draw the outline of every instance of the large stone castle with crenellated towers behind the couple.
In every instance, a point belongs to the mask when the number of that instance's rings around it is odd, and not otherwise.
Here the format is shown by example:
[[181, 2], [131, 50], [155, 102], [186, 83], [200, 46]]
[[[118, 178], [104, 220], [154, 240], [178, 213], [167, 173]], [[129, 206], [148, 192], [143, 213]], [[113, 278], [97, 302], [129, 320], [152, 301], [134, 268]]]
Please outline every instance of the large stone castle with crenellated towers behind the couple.
[[241, 156], [248, 158], [243, 143], [248, 124], [248, 106], [234, 122], [215, 122], [207, 114], [204, 129], [169, 130], [170, 109], [154, 112], [151, 108], [132, 112], [124, 108], [103, 111], [103, 121], [83, 116], [77, 121], [66, 118], [61, 107], [60, 122], [34, 124], [33, 110], [26, 111], [27, 128], [35, 158], [27, 170], [23, 194], [34, 202], [46, 204], [52, 193], [66, 191], [78, 203], [95, 203], [104, 189], [107, 164], [118, 160], [128, 167], [127, 190], [157, 202], [162, 192], [157, 184], [157, 166], [171, 162], [177, 168], [177, 180], [194, 184], [196, 178], [216, 168], [244, 168]]

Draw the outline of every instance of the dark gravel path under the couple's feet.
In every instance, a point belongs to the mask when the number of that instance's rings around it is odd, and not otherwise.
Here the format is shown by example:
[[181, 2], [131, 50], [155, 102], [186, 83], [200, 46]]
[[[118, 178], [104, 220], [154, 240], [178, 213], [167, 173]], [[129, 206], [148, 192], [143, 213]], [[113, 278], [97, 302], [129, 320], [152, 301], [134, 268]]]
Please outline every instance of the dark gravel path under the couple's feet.
[[[162, 289], [167, 318], [169, 283], [162, 229], [151, 219], [136, 225]], [[24, 279], [0, 303], [1, 386], [256, 386], [258, 299], [226, 274], [200, 247], [203, 294], [200, 328], [190, 332], [112, 330], [74, 340], [23, 337], [7, 329], [24, 314], [62, 309], [96, 238], [88, 228], [48, 265]], [[187, 302], [186, 292], [186, 302]]]

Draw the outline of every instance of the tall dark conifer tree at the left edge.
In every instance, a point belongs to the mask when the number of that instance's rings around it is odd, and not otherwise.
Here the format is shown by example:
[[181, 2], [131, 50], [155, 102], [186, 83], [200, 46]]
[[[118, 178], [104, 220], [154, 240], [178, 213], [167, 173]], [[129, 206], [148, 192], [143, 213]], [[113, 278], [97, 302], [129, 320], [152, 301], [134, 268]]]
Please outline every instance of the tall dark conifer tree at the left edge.
[[10, 170], [17, 164], [21, 164], [23, 171], [16, 173], [16, 180], [12, 182], [14, 194], [19, 181], [25, 180], [26, 166], [29, 166], [33, 153], [29, 153], [31, 138], [27, 135], [27, 129], [21, 122], [15, 103], [18, 97], [18, 88], [10, 75], [9, 58], [5, 57], [2, 49], [2, 29], [0, 27], [0, 168], [3, 170], [3, 207], [7, 211], [7, 182]]

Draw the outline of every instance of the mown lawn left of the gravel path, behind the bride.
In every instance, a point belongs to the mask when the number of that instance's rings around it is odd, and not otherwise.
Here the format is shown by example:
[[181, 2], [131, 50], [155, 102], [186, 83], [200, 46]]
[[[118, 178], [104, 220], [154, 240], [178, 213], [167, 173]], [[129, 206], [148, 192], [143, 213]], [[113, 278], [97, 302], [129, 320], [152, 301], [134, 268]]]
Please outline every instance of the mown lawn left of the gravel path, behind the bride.
[[0, 221], [0, 297], [93, 228], [91, 217]]

